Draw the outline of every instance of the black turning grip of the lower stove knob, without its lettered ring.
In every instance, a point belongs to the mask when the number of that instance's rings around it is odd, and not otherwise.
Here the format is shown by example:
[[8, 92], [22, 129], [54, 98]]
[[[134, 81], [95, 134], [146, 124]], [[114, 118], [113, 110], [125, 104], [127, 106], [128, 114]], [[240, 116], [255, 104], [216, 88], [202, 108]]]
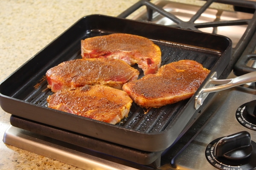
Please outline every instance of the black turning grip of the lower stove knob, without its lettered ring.
[[214, 153], [216, 156], [239, 160], [250, 156], [252, 151], [250, 133], [242, 131], [221, 138], [215, 146]]

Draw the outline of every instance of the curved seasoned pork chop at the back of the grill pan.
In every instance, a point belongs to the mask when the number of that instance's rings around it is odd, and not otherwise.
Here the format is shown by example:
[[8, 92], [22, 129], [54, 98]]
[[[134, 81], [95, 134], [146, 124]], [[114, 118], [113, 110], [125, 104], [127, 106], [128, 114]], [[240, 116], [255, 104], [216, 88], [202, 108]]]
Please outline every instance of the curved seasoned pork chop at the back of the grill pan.
[[144, 75], [155, 74], [161, 64], [161, 51], [151, 40], [131, 34], [110, 34], [81, 40], [82, 58], [121, 59], [138, 64]]

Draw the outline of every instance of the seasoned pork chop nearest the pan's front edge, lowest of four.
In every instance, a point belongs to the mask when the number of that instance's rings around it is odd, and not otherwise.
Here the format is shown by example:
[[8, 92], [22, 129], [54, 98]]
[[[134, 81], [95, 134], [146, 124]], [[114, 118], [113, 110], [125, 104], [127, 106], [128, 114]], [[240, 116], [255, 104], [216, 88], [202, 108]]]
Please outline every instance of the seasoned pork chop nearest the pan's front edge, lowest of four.
[[90, 119], [116, 124], [128, 116], [132, 99], [106, 85], [64, 89], [47, 98], [48, 107]]

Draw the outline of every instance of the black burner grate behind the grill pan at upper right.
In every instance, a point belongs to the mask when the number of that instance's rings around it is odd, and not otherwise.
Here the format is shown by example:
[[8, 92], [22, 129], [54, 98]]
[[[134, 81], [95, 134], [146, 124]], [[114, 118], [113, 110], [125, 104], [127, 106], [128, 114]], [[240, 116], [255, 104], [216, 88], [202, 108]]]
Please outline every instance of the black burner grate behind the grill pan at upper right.
[[[253, 13], [253, 17], [251, 19], [246, 19], [246, 20], [230, 20], [230, 21], [215, 20], [213, 22], [207, 22], [207, 23], [195, 23], [195, 20], [197, 20], [198, 17], [200, 17], [201, 14], [207, 8], [209, 8], [209, 6], [212, 3], [223, 3], [223, 4], [233, 5], [235, 9], [239, 9], [239, 10], [241, 9], [243, 12]], [[244, 32], [243, 36], [239, 40], [236, 47], [233, 48], [232, 57], [230, 59], [229, 65], [227, 66], [226, 70], [223, 73], [223, 75], [224, 75], [223, 77], [227, 77], [227, 75], [230, 74], [230, 72], [233, 70], [234, 65], [236, 64], [238, 59], [241, 57], [244, 49], [247, 47], [248, 43], [250, 42], [250, 40], [253, 37], [253, 34], [256, 31], [256, 12], [255, 12], [256, 11], [256, 2], [253, 2], [253, 1], [207, 0], [206, 3], [203, 6], [201, 6], [201, 8], [196, 12], [196, 14], [188, 22], [186, 22], [186, 21], [180, 20], [175, 15], [165, 11], [163, 8], [151, 3], [150, 0], [140, 0], [139, 2], [135, 3], [133, 6], [128, 8], [126, 11], [122, 12], [118, 17], [126, 18], [142, 6], [146, 6], [146, 8], [147, 8], [147, 17], [148, 17], [149, 21], [152, 20], [153, 11], [157, 11], [164, 17], [167, 17], [170, 20], [172, 20], [173, 22], [177, 23], [176, 25], [173, 25], [172, 27], [179, 27], [179, 28], [185, 28], [185, 29], [199, 31], [198, 28], [208, 28], [208, 27], [214, 28], [214, 27], [218, 27], [218, 26], [247, 25], [247, 29]], [[255, 38], [254, 38], [254, 41], [255, 41]], [[242, 67], [244, 69], [246, 67], [245, 61], [247, 61], [247, 59], [244, 59], [242, 65], [239, 64], [239, 67]], [[241, 74], [245, 74], [245, 73], [249, 72], [248, 70], [251, 71], [252, 69], [247, 67], [247, 70]]]

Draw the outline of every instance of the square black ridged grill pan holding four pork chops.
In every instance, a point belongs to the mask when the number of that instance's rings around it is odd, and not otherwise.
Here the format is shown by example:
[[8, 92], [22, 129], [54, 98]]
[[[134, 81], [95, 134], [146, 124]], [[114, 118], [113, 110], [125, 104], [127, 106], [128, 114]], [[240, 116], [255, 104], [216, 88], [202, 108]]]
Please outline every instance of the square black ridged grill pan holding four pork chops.
[[162, 65], [192, 59], [212, 72], [217, 71], [219, 76], [231, 57], [232, 42], [227, 37], [90, 15], [81, 18], [0, 84], [0, 105], [3, 110], [45, 125], [139, 150], [165, 150], [187, 129], [188, 122], [198, 117], [200, 108], [194, 108], [195, 95], [176, 104], [148, 110], [133, 104], [128, 118], [116, 125], [47, 108], [46, 99], [52, 92], [47, 89], [44, 79], [46, 71], [61, 62], [81, 58], [82, 39], [112, 33], [149, 38], [161, 48]]

